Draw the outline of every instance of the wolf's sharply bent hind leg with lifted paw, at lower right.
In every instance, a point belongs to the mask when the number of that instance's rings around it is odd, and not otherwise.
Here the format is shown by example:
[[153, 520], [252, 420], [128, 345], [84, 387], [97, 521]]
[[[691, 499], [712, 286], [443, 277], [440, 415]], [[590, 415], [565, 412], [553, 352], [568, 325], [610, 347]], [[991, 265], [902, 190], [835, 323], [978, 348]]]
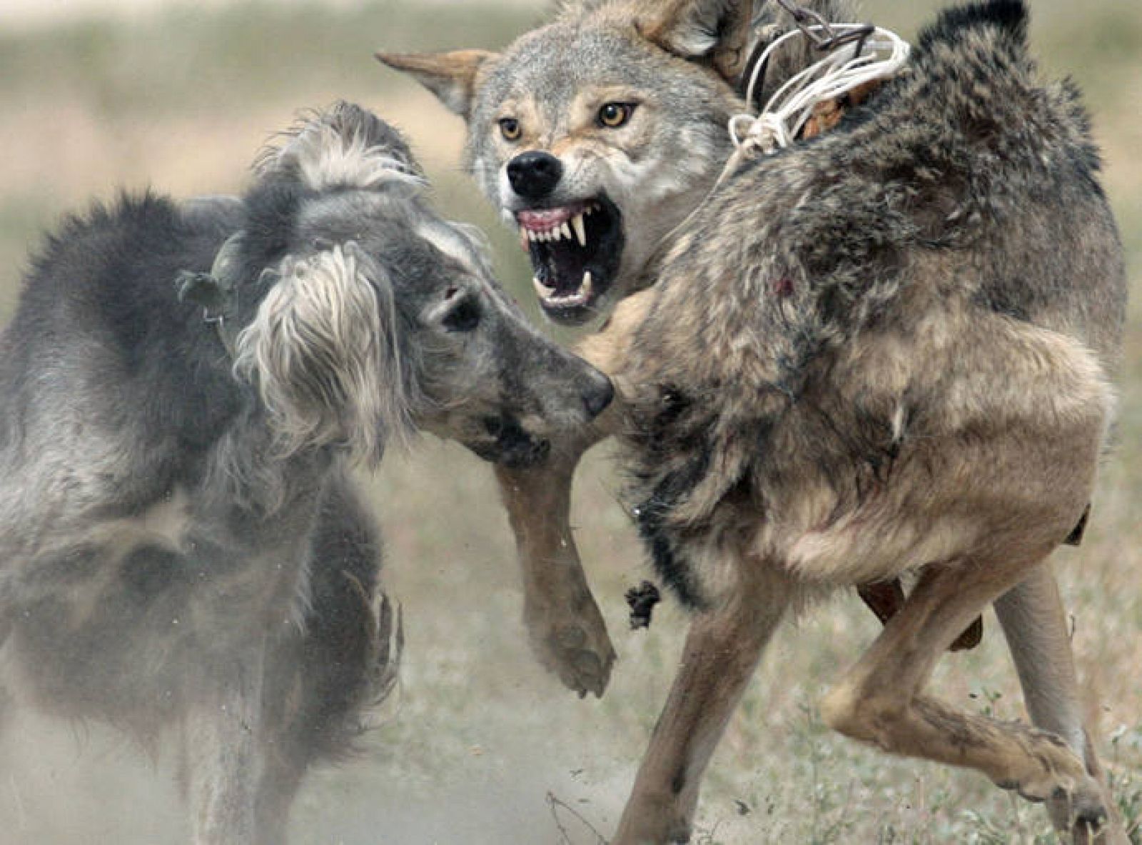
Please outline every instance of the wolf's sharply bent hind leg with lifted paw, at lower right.
[[922, 694], [940, 654], [980, 611], [1019, 584], [1047, 550], [932, 566], [869, 651], [821, 703], [825, 720], [893, 752], [978, 768], [1032, 800], [1068, 802], [1065, 829], [1088, 842], [1107, 820], [1102, 789], [1053, 733], [957, 711]]

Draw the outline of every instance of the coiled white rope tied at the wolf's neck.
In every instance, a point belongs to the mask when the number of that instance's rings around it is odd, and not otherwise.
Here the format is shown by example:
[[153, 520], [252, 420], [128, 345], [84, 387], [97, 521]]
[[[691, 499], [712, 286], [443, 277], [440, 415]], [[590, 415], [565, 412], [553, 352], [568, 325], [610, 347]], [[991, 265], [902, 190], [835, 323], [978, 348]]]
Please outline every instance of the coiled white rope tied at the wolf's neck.
[[[834, 32], [853, 32], [863, 24], [830, 24]], [[813, 32], [827, 33], [820, 25], [806, 27]], [[787, 32], [771, 43], [754, 64], [754, 72], [746, 89], [746, 102], [753, 104], [754, 88], [770, 56], [790, 38], [807, 38], [801, 30]], [[858, 49], [860, 53], [858, 54]], [[782, 85], [770, 97], [761, 114], [742, 113], [730, 118], [730, 137], [741, 156], [750, 156], [755, 150], [772, 154], [789, 146], [813, 114], [818, 103], [836, 99], [841, 95], [875, 79], [891, 77], [901, 69], [910, 47], [900, 35], [888, 30], [874, 27], [867, 38], [843, 45], [820, 62], [810, 65]], [[743, 125], [745, 129], [742, 131]], [[737, 157], [735, 157], [737, 158]]]

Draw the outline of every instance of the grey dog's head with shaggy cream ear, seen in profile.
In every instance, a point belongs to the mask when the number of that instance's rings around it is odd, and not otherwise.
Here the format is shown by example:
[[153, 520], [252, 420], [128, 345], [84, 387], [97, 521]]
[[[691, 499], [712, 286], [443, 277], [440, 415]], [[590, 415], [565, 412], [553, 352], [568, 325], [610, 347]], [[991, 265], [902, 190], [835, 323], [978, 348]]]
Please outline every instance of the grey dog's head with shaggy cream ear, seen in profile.
[[424, 428], [526, 464], [609, 402], [606, 377], [526, 325], [477, 232], [424, 192], [397, 133], [347, 104], [263, 157], [212, 276], [235, 372], [284, 451], [377, 459]]

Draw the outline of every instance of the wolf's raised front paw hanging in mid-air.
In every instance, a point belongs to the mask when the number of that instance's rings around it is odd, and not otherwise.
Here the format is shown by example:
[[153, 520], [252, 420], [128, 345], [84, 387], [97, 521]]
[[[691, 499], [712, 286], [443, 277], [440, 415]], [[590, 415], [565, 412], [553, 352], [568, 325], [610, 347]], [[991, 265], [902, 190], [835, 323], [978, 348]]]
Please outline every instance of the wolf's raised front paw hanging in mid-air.
[[529, 608], [524, 614], [531, 647], [539, 662], [558, 676], [563, 685], [584, 697], [602, 697], [611, 678], [614, 648], [595, 600], [568, 607]]

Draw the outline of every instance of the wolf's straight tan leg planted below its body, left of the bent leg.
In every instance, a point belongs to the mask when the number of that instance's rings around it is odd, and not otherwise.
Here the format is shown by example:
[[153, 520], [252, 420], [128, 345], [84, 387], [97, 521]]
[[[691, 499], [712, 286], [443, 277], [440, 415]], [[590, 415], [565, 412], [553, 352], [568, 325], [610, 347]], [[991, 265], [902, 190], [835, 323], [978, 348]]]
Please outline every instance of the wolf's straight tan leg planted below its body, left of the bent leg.
[[774, 573], [694, 617], [612, 845], [689, 842], [702, 773], [790, 595]]

